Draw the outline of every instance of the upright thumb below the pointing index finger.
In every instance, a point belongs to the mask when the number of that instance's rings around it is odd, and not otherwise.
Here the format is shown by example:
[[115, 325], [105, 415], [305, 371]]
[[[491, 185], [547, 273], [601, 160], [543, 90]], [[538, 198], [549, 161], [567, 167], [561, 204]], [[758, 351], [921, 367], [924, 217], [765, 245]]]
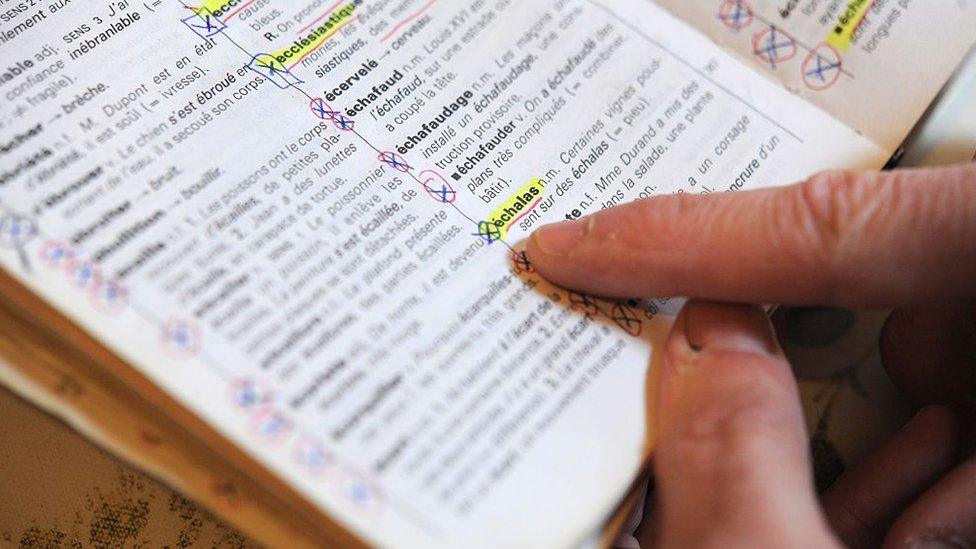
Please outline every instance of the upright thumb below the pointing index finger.
[[664, 547], [833, 546], [796, 383], [761, 309], [689, 302], [665, 349], [655, 474]]

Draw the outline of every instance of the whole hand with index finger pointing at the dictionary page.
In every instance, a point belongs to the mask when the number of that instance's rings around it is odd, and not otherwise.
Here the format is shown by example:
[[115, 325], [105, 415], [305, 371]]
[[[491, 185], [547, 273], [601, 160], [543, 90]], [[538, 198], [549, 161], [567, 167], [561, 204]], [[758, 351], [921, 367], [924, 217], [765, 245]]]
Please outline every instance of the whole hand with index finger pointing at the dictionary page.
[[[976, 546], [976, 459], [958, 463], [976, 425], [976, 165], [653, 198], [544, 227], [528, 254], [582, 292], [693, 298], [660, 376], [659, 544]], [[700, 300], [901, 307], [882, 355], [921, 411], [818, 501], [768, 320]]]

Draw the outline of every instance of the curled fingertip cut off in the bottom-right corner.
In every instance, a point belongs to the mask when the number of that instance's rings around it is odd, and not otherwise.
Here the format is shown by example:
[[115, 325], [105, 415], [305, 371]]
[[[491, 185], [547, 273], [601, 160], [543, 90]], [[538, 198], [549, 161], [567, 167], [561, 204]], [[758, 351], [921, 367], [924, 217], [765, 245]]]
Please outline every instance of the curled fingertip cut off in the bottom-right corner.
[[976, 459], [925, 492], [895, 522], [884, 547], [976, 547]]

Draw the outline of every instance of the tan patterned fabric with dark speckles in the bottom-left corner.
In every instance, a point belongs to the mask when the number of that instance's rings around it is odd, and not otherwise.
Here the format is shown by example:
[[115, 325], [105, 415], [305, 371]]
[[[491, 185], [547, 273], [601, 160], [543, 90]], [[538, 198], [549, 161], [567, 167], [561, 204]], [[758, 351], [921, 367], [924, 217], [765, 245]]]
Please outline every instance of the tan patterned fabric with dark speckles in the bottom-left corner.
[[0, 546], [256, 547], [6, 389], [0, 418]]

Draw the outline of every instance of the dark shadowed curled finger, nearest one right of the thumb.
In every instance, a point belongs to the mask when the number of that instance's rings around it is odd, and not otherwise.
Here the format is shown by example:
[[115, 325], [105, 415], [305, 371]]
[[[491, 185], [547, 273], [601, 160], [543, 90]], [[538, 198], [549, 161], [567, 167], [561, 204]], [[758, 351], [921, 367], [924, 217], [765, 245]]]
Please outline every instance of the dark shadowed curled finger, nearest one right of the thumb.
[[844, 545], [879, 547], [895, 519], [955, 464], [957, 442], [952, 412], [928, 407], [845, 472], [822, 498]]

